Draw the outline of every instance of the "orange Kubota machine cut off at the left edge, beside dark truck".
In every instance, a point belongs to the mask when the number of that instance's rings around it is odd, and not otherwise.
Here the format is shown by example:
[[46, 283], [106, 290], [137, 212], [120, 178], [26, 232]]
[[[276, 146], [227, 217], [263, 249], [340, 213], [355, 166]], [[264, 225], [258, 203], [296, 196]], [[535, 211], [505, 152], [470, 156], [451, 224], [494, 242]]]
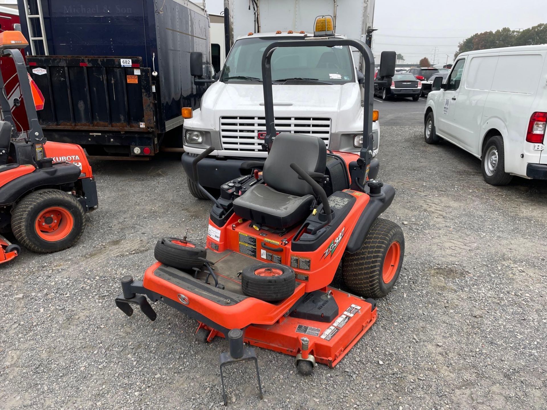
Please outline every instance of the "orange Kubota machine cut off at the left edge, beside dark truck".
[[[20, 50], [27, 45], [19, 31], [0, 33], [0, 232], [13, 232], [27, 249], [51, 253], [82, 236], [85, 212], [97, 206], [97, 188], [82, 147], [44, 138], [36, 115], [43, 98]], [[0, 263], [20, 251], [0, 235]]]

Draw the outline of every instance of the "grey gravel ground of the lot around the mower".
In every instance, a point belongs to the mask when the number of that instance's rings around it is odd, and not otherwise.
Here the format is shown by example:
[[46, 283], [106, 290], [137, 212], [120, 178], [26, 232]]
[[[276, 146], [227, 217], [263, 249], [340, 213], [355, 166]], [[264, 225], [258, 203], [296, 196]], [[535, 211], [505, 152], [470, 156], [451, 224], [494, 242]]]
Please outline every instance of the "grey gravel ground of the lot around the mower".
[[[252, 367], [235, 366], [231, 408], [547, 408], [547, 183], [487, 185], [478, 160], [421, 133], [382, 127], [380, 176], [397, 189], [384, 217], [403, 227], [406, 255], [376, 324], [307, 378], [258, 349], [264, 400]], [[157, 238], [188, 227], [204, 241], [209, 204], [187, 193], [176, 157], [94, 170], [100, 208], [80, 242], [0, 266], [0, 407], [220, 407], [223, 339], [196, 344], [196, 323], [163, 304], [155, 322], [114, 305]]]

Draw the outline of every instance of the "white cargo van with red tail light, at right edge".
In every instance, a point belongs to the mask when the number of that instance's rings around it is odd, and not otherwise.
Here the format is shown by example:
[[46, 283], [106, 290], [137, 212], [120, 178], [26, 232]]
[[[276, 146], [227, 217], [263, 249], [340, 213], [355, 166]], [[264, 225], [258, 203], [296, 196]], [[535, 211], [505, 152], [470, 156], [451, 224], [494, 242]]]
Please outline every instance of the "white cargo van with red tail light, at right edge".
[[545, 44], [460, 54], [427, 97], [426, 142], [443, 138], [480, 158], [492, 185], [547, 179], [546, 55]]

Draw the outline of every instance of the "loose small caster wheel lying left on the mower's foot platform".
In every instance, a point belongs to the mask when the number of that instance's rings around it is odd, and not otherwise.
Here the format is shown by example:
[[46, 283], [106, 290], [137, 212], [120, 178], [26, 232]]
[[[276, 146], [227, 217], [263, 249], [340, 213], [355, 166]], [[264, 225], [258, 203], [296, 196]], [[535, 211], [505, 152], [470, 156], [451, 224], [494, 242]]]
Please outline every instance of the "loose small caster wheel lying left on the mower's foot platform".
[[201, 245], [179, 238], [165, 237], [156, 242], [154, 257], [164, 265], [182, 270], [200, 268], [207, 257], [207, 251]]

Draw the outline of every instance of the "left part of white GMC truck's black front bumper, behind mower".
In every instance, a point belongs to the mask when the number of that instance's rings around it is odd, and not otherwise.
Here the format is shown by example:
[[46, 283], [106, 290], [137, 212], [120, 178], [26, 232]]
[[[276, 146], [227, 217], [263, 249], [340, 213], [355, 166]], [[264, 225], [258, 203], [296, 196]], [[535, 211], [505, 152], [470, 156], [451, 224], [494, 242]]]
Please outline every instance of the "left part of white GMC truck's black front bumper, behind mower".
[[[182, 166], [187, 175], [192, 174], [192, 161], [195, 154], [182, 154]], [[265, 158], [230, 158], [230, 157], [206, 157], [197, 163], [199, 183], [205, 188], [220, 188], [226, 181], [241, 177], [243, 173], [249, 173], [250, 169], [241, 169], [245, 161], [264, 161]]]

